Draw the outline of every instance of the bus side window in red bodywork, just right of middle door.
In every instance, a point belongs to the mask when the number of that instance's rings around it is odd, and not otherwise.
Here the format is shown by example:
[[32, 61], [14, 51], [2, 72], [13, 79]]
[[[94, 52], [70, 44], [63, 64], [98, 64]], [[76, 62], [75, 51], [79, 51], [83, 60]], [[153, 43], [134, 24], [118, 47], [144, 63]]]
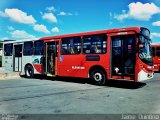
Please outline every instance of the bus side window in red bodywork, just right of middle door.
[[81, 53], [81, 38], [80, 37], [69, 37], [62, 38], [61, 54], [62, 55], [73, 55]]

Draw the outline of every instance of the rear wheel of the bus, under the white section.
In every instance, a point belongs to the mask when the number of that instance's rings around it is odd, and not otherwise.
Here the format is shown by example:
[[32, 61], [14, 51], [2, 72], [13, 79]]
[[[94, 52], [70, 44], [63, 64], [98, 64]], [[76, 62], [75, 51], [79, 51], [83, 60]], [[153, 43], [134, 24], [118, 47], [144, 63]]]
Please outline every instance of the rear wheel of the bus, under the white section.
[[26, 78], [32, 78], [33, 75], [34, 75], [34, 70], [33, 70], [32, 65], [27, 65], [25, 67], [25, 77]]

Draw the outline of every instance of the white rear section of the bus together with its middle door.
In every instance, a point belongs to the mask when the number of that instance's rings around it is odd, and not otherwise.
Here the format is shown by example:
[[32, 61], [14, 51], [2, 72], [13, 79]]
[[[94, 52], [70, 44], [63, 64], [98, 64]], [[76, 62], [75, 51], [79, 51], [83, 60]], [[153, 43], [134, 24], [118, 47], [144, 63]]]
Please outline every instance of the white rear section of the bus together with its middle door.
[[55, 76], [56, 47], [58, 41], [17, 40], [4, 42], [3, 67], [8, 71], [20, 72], [27, 78], [35, 74]]

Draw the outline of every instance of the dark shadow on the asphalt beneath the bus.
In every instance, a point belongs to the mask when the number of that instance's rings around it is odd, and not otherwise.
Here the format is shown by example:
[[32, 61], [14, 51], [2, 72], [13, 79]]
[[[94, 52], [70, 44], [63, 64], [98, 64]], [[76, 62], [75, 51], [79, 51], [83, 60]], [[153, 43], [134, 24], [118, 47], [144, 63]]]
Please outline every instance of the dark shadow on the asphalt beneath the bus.
[[[41, 79], [41, 80], [64, 81], [64, 82], [72, 82], [72, 83], [80, 83], [80, 84], [93, 84], [93, 82], [90, 79], [82, 79], [82, 78], [46, 77], [42, 75], [35, 75], [34, 78]], [[138, 89], [138, 88], [144, 87], [145, 85], [146, 83], [142, 83], [142, 82], [108, 80], [106, 85], [104, 86], [123, 88], [123, 89]]]

